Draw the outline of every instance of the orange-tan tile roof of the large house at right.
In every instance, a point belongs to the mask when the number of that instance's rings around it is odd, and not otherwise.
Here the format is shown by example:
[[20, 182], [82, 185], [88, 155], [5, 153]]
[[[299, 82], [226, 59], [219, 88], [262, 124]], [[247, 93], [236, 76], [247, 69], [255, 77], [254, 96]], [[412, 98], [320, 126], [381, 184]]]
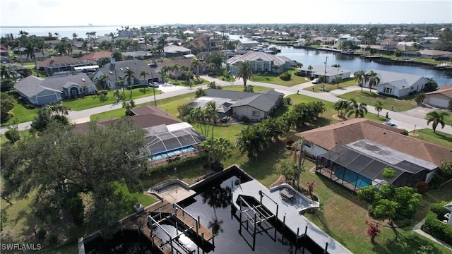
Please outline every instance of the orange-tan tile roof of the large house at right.
[[370, 140], [379, 145], [441, 165], [443, 159], [452, 161], [452, 151], [446, 147], [426, 143], [399, 130], [367, 119], [351, 119], [321, 128], [298, 133], [314, 145], [331, 150], [335, 145], [347, 145], [357, 140]]

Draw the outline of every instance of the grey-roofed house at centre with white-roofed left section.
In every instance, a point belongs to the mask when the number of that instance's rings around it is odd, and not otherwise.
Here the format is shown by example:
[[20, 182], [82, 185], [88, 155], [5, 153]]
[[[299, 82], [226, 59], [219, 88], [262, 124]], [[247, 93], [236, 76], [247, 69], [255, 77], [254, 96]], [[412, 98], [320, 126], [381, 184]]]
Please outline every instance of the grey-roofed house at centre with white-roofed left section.
[[225, 116], [248, 117], [251, 121], [266, 119], [283, 104], [284, 94], [275, 90], [260, 92], [237, 92], [209, 89], [206, 96], [189, 103], [192, 108], [206, 107], [208, 102], [215, 102], [220, 119]]

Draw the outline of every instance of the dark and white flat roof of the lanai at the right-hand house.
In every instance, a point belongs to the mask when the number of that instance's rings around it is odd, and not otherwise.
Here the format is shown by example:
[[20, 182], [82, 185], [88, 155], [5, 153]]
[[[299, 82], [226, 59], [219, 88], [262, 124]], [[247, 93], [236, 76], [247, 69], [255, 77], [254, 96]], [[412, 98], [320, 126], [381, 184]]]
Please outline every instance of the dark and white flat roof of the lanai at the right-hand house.
[[336, 145], [321, 157], [370, 180], [383, 179], [381, 173], [386, 167], [391, 167], [396, 170], [396, 176], [393, 179], [386, 179], [389, 183], [393, 183], [404, 173], [417, 174], [438, 167], [423, 159], [364, 139], [347, 145]]

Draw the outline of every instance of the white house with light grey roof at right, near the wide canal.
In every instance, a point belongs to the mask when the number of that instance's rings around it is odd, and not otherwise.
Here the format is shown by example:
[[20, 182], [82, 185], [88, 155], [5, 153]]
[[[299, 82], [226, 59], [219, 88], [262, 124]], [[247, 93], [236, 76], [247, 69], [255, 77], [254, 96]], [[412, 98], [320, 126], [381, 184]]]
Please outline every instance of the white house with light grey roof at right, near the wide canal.
[[[391, 95], [393, 97], [405, 97], [414, 92], [422, 92], [425, 85], [431, 82], [428, 78], [420, 75], [407, 73], [396, 73], [392, 71], [371, 70], [377, 73], [380, 80], [378, 85], [373, 85], [383, 95]], [[369, 81], [363, 84], [363, 87], [369, 87]]]

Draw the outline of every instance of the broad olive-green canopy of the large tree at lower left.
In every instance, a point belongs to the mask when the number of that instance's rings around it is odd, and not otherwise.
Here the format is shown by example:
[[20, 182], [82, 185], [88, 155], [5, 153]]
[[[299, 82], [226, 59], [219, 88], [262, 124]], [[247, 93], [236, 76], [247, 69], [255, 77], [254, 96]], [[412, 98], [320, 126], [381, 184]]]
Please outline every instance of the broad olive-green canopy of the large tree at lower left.
[[107, 126], [93, 122], [83, 132], [51, 121], [39, 137], [2, 147], [2, 195], [25, 198], [34, 191], [35, 214], [44, 222], [80, 214], [69, 211], [73, 206], [68, 204], [79, 204], [76, 199], [83, 196], [88, 198], [83, 202], [87, 223], [104, 233], [114, 231], [120, 209], [112, 183], [132, 190], [140, 186], [144, 145], [143, 131], [129, 119]]

